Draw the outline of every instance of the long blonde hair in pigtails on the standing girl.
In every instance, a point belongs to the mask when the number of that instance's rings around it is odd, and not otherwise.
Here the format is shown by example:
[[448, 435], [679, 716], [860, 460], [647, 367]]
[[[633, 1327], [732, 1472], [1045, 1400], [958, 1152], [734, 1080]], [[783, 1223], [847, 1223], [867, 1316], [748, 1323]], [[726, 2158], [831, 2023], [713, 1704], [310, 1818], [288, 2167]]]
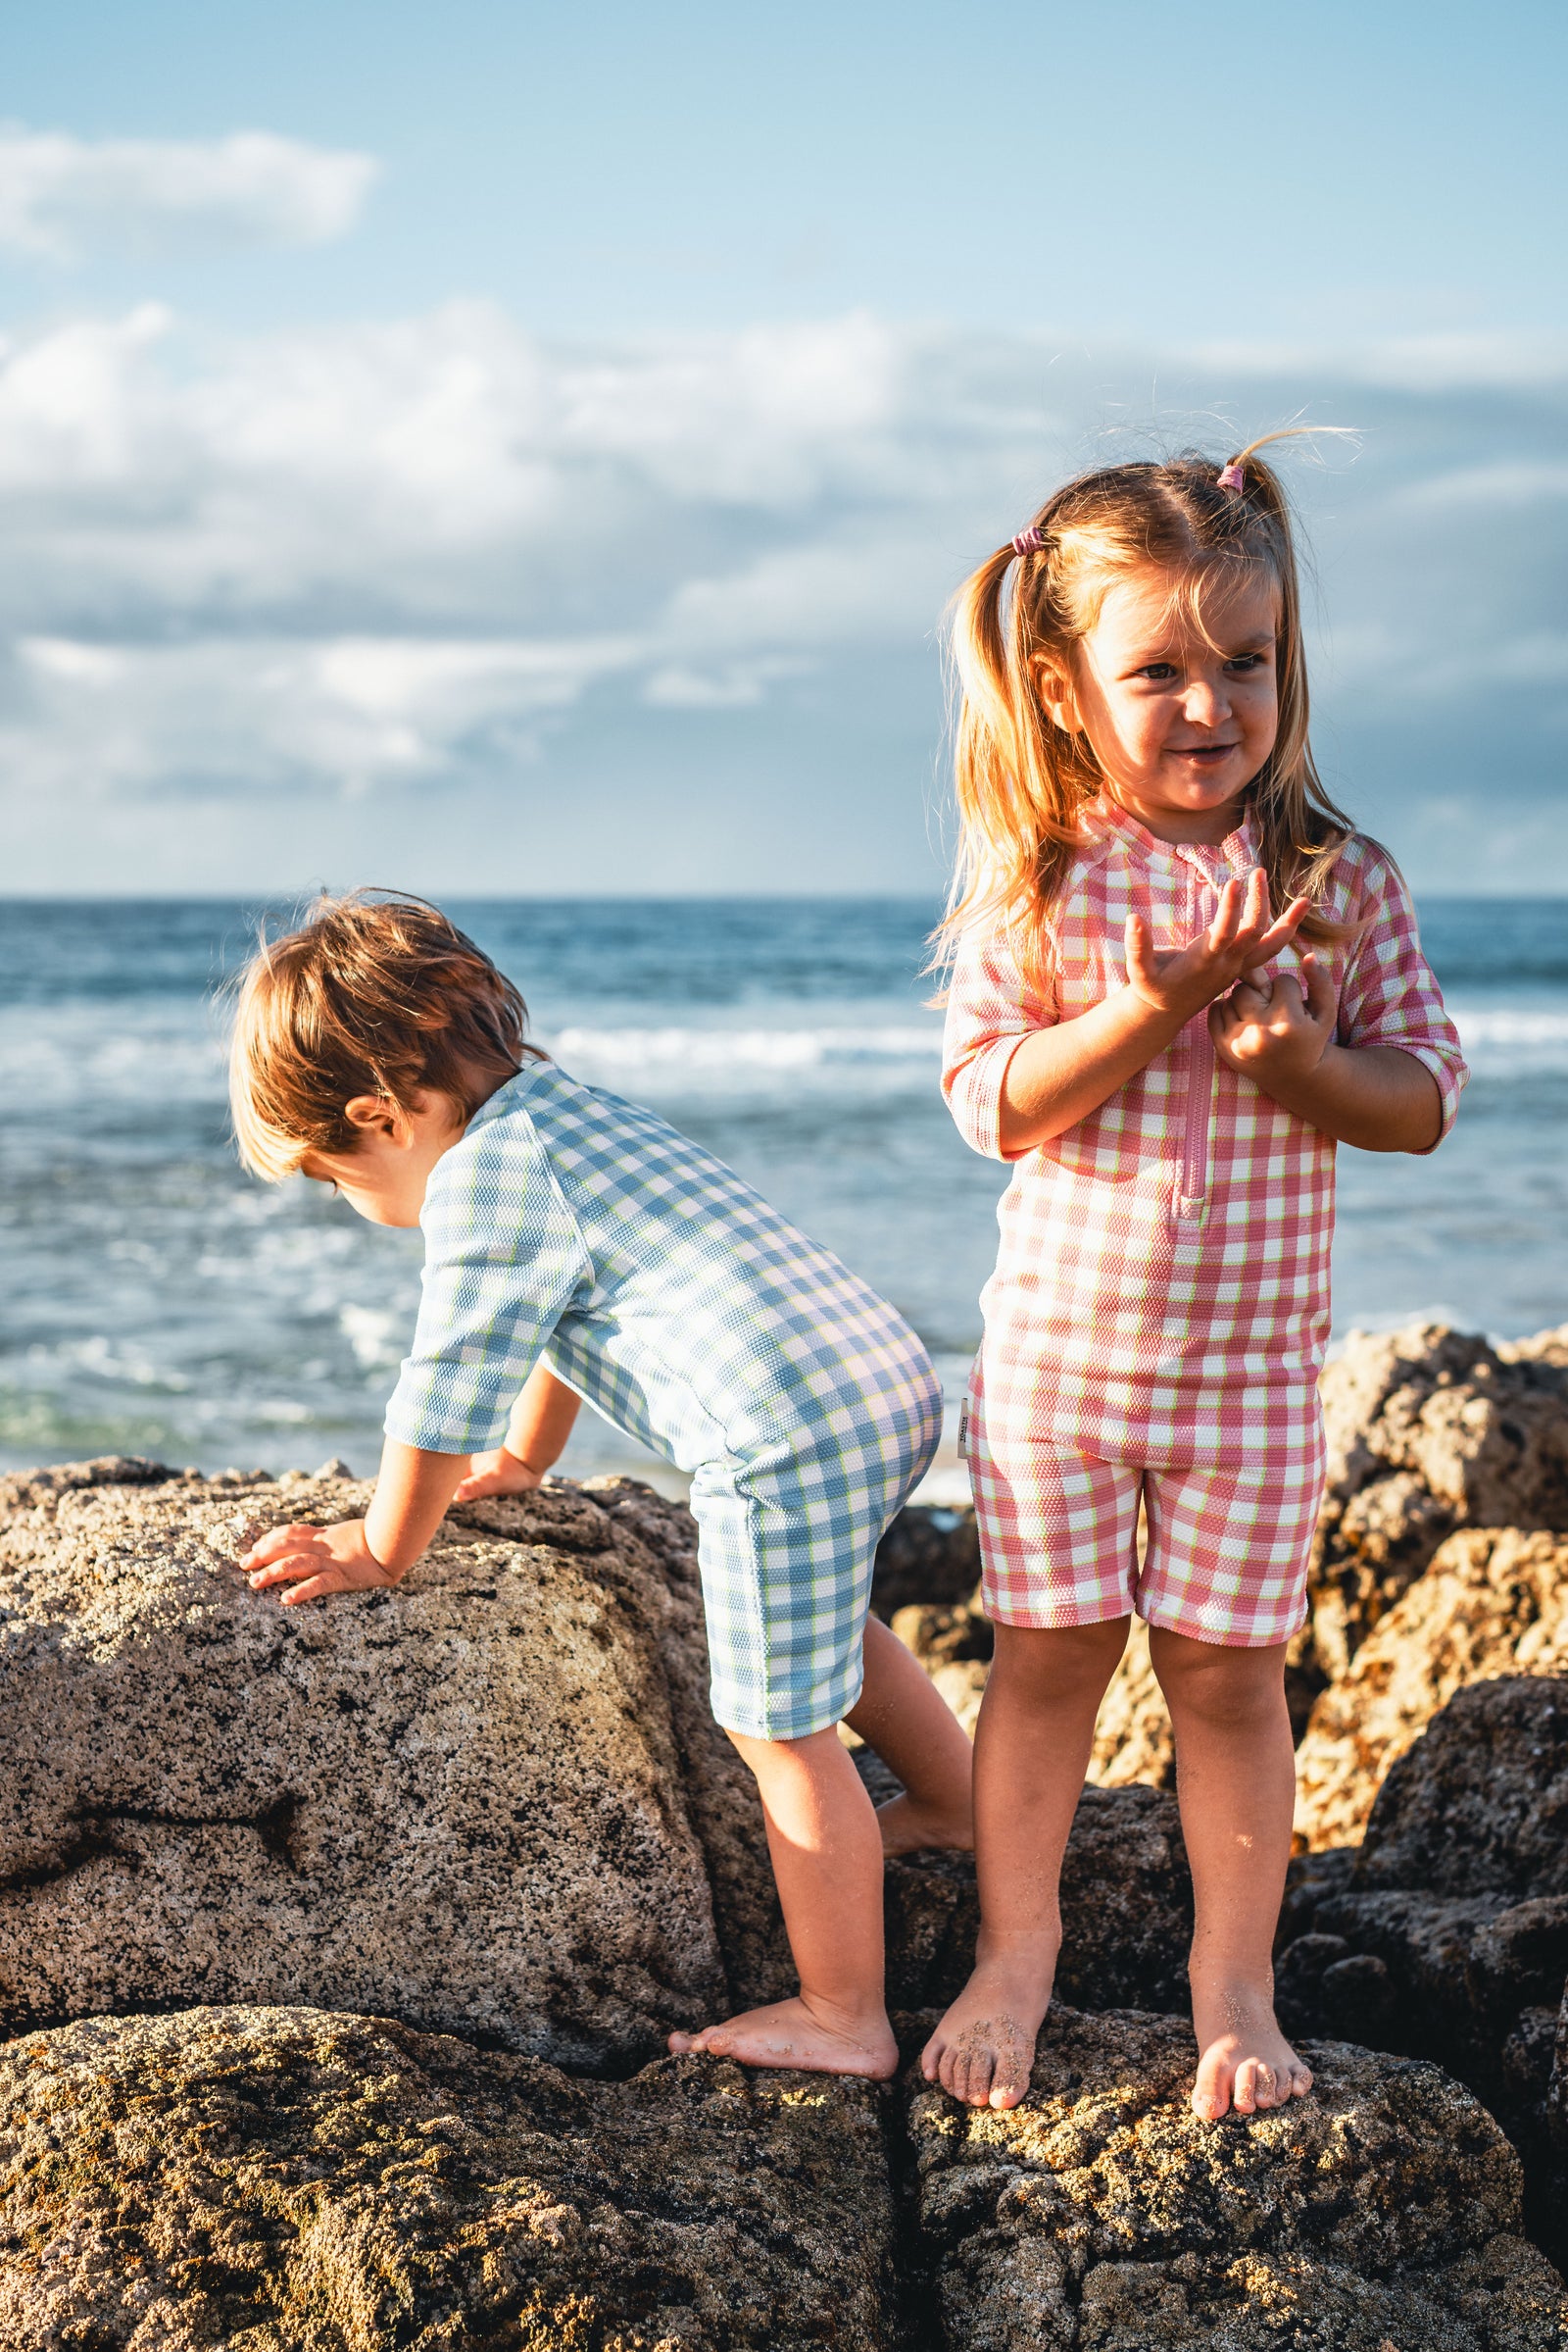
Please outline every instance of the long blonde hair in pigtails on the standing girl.
[[[1309, 428], [1295, 428], [1309, 430]], [[1279, 593], [1279, 734], [1248, 786], [1258, 861], [1274, 908], [1321, 898], [1349, 818], [1324, 790], [1307, 743], [1307, 666], [1291, 510], [1258, 459], [1265, 433], [1229, 466], [1175, 456], [1081, 473], [1053, 492], [1018, 541], [997, 548], [952, 600], [950, 654], [959, 684], [959, 858], [938, 953], [976, 922], [1016, 931], [1044, 976], [1051, 910], [1081, 847], [1084, 804], [1100, 764], [1081, 731], [1058, 727], [1039, 694], [1041, 668], [1072, 677], [1072, 654], [1107, 588], [1135, 572], [1175, 574], [1173, 602], [1201, 626], [1201, 593], [1218, 576], [1267, 576]], [[1225, 487], [1222, 477], [1239, 482]], [[1011, 574], [1011, 579], [1009, 579]], [[1335, 936], [1307, 917], [1307, 936]]]

